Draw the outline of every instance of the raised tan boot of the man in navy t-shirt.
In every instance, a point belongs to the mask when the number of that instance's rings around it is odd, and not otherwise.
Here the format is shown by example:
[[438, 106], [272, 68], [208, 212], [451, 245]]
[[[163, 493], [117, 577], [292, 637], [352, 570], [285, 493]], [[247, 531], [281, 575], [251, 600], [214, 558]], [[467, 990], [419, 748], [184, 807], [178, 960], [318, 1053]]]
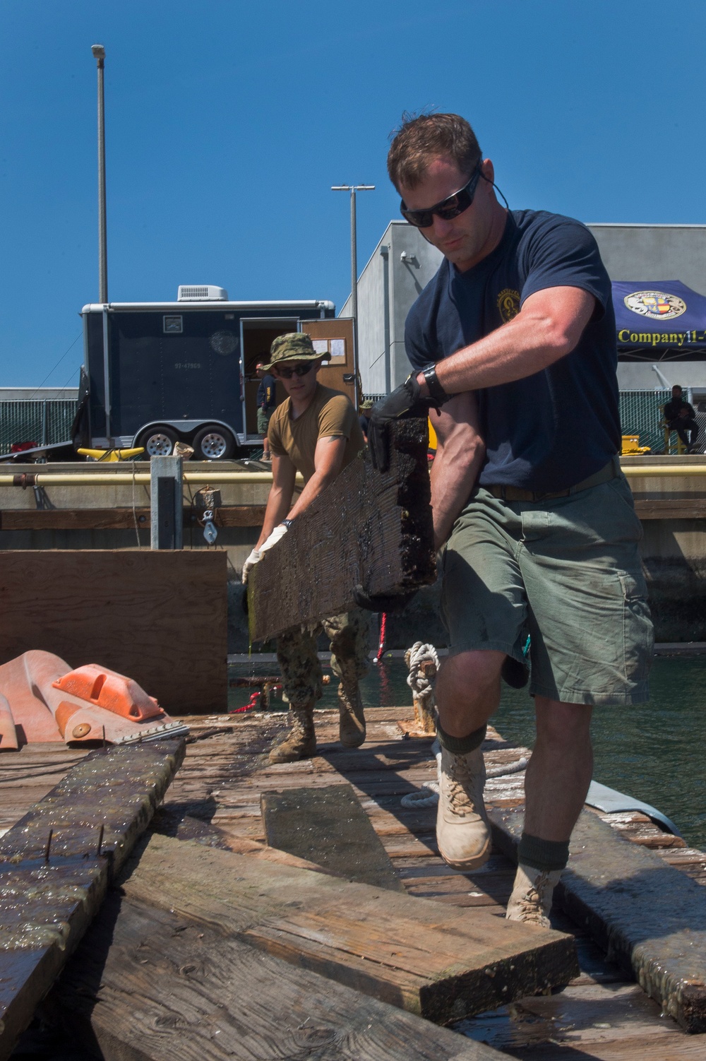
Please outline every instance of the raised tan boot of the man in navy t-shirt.
[[454, 869], [478, 869], [488, 860], [491, 836], [483, 803], [486, 764], [480, 748], [441, 749], [437, 843]]

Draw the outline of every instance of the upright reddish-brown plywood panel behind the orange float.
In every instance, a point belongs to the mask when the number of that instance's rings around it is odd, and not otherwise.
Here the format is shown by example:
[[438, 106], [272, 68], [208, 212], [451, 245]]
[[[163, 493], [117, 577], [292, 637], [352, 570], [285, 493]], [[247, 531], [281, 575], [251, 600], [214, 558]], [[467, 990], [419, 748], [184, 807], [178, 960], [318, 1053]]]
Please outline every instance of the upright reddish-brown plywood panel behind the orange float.
[[5, 552], [0, 663], [43, 648], [129, 675], [170, 714], [224, 710], [227, 562], [210, 550]]

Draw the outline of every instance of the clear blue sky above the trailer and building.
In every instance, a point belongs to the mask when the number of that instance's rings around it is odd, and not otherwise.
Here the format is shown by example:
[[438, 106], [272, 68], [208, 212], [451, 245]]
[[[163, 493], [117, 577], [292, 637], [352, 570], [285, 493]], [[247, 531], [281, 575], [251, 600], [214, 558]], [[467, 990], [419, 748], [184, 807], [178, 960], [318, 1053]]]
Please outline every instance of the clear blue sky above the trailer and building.
[[[0, 0], [0, 386], [74, 383], [98, 299], [106, 47], [112, 301], [350, 291], [403, 110], [474, 125], [511, 207], [706, 223], [703, 0]], [[73, 346], [71, 344], [74, 343]], [[67, 352], [68, 351], [68, 352]]]

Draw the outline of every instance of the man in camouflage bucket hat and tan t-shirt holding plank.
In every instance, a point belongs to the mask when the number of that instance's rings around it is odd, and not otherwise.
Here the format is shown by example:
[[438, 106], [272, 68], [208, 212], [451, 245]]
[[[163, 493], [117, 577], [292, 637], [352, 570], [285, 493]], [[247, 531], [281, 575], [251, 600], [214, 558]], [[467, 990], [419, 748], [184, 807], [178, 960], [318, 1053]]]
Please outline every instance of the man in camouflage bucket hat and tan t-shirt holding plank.
[[[303, 332], [279, 335], [270, 349], [271, 371], [287, 398], [275, 410], [267, 431], [272, 455], [272, 486], [258, 544], [243, 567], [243, 584], [262, 554], [277, 544], [293, 521], [365, 447], [357, 416], [346, 395], [316, 379], [322, 355]], [[293, 505], [295, 476], [304, 489]], [[321, 666], [316, 638], [331, 639], [331, 666], [338, 676], [340, 742], [357, 748], [366, 737], [358, 682], [368, 671], [369, 615], [361, 609], [332, 615], [313, 627], [301, 627], [277, 639], [284, 698], [289, 703], [290, 730], [269, 754], [271, 763], [308, 759], [316, 752], [314, 706], [321, 696]]]

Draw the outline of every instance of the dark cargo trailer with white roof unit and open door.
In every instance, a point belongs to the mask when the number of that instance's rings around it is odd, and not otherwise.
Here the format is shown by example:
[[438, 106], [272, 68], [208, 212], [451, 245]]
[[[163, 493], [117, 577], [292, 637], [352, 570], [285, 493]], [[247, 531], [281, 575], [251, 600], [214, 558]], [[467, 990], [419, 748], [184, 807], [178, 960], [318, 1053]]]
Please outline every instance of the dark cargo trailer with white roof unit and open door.
[[[260, 442], [255, 365], [277, 335], [308, 331], [328, 358], [321, 382], [353, 398], [352, 321], [331, 301], [229, 301], [223, 289], [180, 288], [176, 302], [111, 302], [82, 310], [87, 420], [96, 448], [177, 440], [194, 458], [232, 456]], [[279, 399], [284, 398], [282, 392]]]

